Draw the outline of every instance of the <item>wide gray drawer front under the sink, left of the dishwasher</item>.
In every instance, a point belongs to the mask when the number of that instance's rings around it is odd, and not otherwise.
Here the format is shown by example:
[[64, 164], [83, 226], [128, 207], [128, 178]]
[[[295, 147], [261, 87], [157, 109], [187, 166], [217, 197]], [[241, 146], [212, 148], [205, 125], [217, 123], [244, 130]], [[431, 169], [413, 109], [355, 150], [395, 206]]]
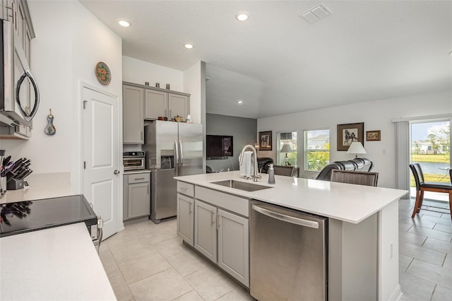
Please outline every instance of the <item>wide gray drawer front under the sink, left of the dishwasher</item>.
[[246, 218], [249, 216], [248, 199], [200, 186], [195, 187], [195, 195], [196, 199], [201, 201], [225, 208]]

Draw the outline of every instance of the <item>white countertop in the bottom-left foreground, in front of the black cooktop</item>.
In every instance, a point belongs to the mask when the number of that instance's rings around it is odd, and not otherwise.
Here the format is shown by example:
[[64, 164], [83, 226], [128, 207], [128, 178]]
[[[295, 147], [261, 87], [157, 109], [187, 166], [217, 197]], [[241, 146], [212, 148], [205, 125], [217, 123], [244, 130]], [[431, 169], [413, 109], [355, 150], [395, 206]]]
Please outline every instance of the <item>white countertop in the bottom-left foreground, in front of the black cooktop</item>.
[[117, 300], [85, 223], [0, 238], [0, 300]]

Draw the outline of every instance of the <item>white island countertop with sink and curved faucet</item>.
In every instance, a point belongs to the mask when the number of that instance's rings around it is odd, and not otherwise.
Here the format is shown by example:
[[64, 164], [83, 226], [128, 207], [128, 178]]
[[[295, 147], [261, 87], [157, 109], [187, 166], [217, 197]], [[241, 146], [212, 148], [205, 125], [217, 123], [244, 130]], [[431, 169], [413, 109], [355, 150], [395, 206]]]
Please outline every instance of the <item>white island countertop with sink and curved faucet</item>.
[[[240, 177], [239, 171], [215, 172], [174, 178], [237, 196], [244, 196], [248, 199], [265, 201], [355, 224], [408, 193], [408, 191], [400, 189], [369, 187], [278, 175], [275, 175], [276, 184], [272, 185], [267, 184], [267, 174], [262, 174], [262, 179], [258, 182], [253, 182], [251, 179], [246, 180]], [[210, 183], [222, 179], [235, 179], [273, 188], [250, 192]]]

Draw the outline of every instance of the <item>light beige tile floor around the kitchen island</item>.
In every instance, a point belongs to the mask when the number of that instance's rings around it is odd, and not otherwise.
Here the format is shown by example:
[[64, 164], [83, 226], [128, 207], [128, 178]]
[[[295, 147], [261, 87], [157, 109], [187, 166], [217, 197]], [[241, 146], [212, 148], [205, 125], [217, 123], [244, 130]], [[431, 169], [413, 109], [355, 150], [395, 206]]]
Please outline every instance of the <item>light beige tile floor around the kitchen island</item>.
[[[424, 201], [425, 205], [435, 202]], [[444, 213], [399, 202], [399, 275], [402, 300], [452, 300], [452, 224]], [[427, 208], [424, 206], [424, 208]], [[434, 206], [447, 208], [447, 203]], [[147, 219], [102, 242], [100, 259], [118, 300], [254, 300], [240, 285], [182, 244], [176, 220]]]

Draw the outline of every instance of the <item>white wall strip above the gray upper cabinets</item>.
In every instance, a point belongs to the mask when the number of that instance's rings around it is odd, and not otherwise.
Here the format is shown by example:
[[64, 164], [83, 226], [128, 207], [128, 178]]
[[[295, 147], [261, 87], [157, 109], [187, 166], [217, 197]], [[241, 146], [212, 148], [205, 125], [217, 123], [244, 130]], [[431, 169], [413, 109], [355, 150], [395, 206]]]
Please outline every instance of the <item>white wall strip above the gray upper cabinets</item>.
[[140, 85], [144, 85], [148, 81], [152, 87], [155, 87], [155, 83], [160, 83], [160, 88], [162, 89], [165, 89], [166, 84], [169, 83], [170, 90], [186, 92], [184, 90], [184, 73], [182, 71], [148, 63], [133, 57], [122, 57], [122, 79], [123, 81]]

